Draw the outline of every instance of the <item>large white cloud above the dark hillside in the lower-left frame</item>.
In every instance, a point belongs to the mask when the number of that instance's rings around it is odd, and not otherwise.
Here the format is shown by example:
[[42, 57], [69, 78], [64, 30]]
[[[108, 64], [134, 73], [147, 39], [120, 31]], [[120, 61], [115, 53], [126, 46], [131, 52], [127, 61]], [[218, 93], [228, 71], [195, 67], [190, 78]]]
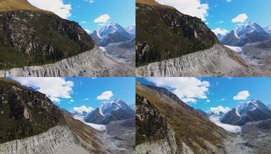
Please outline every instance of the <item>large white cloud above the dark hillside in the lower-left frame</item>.
[[12, 78], [24, 86], [32, 87], [37, 91], [46, 94], [52, 101], [59, 102], [61, 98], [70, 99], [72, 81], [65, 81], [64, 78]]

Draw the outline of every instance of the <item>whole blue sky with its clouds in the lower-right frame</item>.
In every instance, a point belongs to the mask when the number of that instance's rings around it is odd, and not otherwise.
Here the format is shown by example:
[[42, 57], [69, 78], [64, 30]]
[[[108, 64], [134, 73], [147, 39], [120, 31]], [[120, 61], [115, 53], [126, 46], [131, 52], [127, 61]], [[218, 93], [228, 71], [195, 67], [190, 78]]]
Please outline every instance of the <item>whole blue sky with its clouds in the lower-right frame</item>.
[[218, 106], [233, 108], [253, 98], [259, 99], [264, 104], [271, 104], [271, 78], [185, 78], [185, 81], [181, 78], [170, 78], [166, 80], [167, 78], [136, 79], [148, 85], [162, 85], [172, 92], [174, 89], [192, 90], [190, 93], [176, 92], [176, 94], [184, 99], [194, 98], [196, 102], [188, 102], [188, 104], [204, 111]]

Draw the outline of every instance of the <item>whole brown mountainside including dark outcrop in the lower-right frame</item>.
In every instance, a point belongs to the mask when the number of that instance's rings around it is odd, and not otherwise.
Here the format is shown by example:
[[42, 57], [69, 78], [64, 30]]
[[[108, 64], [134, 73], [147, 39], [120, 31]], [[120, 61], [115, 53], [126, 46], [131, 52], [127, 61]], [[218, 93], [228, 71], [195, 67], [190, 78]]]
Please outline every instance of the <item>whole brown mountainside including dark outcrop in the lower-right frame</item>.
[[136, 108], [137, 153], [234, 153], [228, 132], [167, 89], [137, 83]]

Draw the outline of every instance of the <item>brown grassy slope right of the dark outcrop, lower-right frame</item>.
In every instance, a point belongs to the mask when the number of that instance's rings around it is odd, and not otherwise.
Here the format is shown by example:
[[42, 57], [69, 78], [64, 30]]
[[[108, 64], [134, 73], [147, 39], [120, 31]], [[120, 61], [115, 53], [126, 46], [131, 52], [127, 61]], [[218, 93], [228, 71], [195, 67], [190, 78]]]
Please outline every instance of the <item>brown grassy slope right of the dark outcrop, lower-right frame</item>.
[[[184, 109], [179, 104], [162, 101], [156, 95], [136, 89], [136, 94], [145, 97], [155, 106], [175, 131], [176, 140], [184, 141], [195, 152], [201, 148], [208, 149], [203, 140], [207, 140], [219, 146], [224, 136], [219, 133], [221, 128], [208, 120], [200, 118], [196, 112]], [[140, 142], [140, 141], [138, 141]], [[181, 147], [181, 142], [177, 142]]]

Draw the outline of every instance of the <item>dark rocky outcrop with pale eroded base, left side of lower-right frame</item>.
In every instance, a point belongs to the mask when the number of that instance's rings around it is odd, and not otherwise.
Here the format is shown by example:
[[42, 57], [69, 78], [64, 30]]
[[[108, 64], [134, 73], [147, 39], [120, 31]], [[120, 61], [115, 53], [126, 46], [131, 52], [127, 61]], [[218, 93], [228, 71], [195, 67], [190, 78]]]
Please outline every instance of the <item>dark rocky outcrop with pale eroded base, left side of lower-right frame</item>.
[[172, 127], [146, 98], [136, 95], [136, 102], [136, 153], [176, 153]]

